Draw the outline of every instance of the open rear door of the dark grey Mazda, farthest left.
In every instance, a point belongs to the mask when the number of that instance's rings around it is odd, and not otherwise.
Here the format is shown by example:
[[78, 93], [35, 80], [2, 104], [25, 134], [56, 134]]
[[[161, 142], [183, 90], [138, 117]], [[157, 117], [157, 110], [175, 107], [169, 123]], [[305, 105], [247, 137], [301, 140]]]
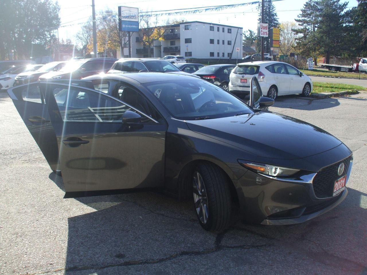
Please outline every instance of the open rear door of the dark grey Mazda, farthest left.
[[51, 169], [59, 170], [57, 139], [44, 99], [44, 86], [36, 82], [10, 88], [7, 92]]

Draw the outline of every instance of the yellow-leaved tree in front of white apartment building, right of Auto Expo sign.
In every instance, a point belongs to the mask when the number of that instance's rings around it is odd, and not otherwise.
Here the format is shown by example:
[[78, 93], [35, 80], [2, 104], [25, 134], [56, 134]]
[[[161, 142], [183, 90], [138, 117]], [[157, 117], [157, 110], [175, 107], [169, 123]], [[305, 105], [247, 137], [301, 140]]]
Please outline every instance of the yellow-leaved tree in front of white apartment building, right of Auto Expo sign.
[[[148, 48], [148, 57], [151, 57], [151, 47], [155, 40], [164, 41], [164, 27], [158, 26], [158, 15], [144, 13], [139, 15], [140, 35], [142, 36], [143, 45]], [[168, 25], [166, 22], [164, 25]]]

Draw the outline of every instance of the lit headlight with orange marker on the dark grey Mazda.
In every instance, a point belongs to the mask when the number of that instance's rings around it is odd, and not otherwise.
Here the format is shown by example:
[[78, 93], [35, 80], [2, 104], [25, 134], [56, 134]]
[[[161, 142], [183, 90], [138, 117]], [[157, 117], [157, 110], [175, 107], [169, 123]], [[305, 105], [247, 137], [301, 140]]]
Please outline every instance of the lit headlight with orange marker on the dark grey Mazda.
[[241, 164], [244, 168], [247, 168], [253, 172], [263, 175], [269, 175], [272, 177], [288, 177], [299, 172], [299, 169], [262, 164], [253, 161], [244, 161], [242, 159], [238, 159], [238, 163]]

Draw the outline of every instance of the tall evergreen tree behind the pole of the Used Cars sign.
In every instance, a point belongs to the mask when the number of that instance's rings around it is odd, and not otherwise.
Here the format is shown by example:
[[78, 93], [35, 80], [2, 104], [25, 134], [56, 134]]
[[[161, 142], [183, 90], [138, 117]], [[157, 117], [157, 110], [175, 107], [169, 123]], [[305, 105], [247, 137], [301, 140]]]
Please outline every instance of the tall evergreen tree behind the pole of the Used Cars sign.
[[[261, 3], [258, 6], [259, 9], [259, 23], [261, 23]], [[279, 26], [278, 15], [275, 11], [275, 6], [271, 0], [264, 1], [264, 23], [268, 23], [269, 30], [272, 28], [276, 28]], [[270, 37], [264, 37], [264, 52], [270, 52]], [[261, 52], [261, 39], [257, 40], [257, 49], [258, 52]]]

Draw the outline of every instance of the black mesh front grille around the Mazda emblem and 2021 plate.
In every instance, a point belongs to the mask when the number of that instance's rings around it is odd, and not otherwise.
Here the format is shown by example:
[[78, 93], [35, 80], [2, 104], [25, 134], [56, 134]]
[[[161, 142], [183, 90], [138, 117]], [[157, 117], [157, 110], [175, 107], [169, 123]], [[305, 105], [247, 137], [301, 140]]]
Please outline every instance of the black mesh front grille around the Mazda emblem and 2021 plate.
[[313, 179], [313, 191], [317, 198], [328, 198], [333, 197], [333, 188], [335, 180], [346, 175], [349, 168], [350, 158], [343, 159], [344, 172], [341, 176], [338, 175], [338, 168], [341, 161], [336, 164], [327, 166], [320, 170]]

